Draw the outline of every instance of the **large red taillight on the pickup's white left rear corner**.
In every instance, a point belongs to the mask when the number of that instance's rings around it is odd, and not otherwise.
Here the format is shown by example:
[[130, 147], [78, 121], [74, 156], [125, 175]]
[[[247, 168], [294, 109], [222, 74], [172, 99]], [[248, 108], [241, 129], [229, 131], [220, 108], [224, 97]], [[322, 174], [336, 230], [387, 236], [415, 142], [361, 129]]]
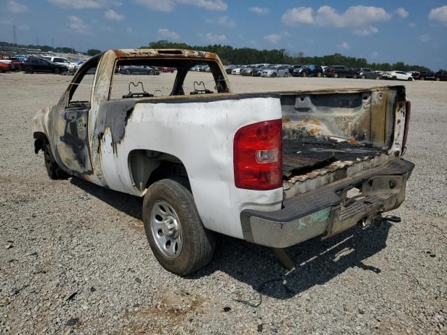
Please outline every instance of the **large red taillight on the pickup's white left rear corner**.
[[282, 186], [282, 121], [240, 128], [233, 144], [235, 186], [273, 190]]

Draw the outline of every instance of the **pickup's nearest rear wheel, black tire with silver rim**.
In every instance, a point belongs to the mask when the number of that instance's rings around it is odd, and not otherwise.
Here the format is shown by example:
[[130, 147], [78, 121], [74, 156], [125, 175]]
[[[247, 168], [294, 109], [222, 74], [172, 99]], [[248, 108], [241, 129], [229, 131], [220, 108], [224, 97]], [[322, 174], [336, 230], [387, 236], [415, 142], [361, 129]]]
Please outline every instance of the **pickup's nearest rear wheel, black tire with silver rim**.
[[184, 179], [162, 179], [149, 186], [142, 216], [149, 246], [162, 267], [185, 276], [207, 265], [216, 237], [198, 214]]

